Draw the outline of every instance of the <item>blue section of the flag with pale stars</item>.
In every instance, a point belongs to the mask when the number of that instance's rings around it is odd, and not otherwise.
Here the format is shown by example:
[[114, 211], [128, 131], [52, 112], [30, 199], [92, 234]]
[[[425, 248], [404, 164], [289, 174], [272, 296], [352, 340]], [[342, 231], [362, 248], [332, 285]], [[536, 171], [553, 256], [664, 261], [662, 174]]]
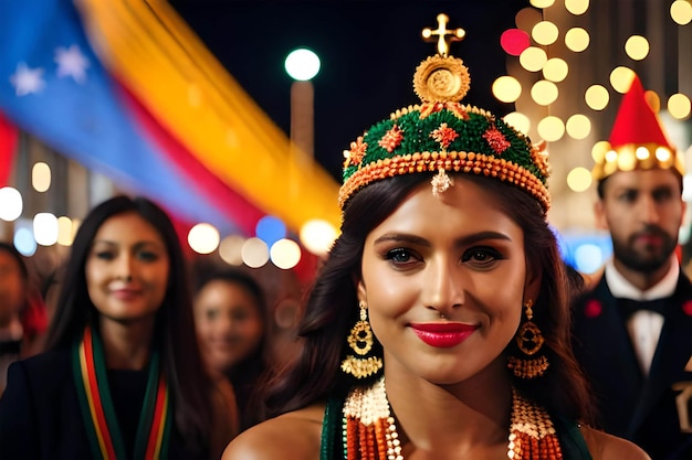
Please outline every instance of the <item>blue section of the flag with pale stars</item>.
[[211, 223], [222, 234], [249, 233], [138, 125], [72, 2], [0, 2], [0, 110], [14, 125], [178, 218]]

